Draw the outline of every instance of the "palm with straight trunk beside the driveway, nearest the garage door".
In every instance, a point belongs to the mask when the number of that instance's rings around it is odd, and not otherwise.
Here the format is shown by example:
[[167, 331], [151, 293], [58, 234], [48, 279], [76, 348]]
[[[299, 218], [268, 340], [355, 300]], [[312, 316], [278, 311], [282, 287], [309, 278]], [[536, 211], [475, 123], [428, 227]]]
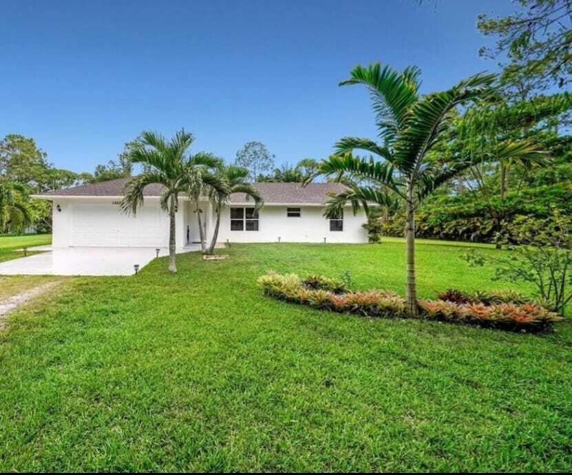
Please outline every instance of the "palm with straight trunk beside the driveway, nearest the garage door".
[[142, 146], [131, 152], [133, 163], [143, 165], [143, 172], [133, 177], [125, 188], [122, 208], [137, 214], [143, 206], [146, 186], [160, 184], [164, 187], [160, 206], [169, 213], [169, 272], [177, 272], [176, 264], [176, 212], [178, 197], [190, 195], [191, 190], [204, 184], [204, 169], [198, 164], [205, 154], [189, 156], [187, 150], [194, 141], [191, 133], [181, 130], [171, 140], [155, 132], [141, 135]]

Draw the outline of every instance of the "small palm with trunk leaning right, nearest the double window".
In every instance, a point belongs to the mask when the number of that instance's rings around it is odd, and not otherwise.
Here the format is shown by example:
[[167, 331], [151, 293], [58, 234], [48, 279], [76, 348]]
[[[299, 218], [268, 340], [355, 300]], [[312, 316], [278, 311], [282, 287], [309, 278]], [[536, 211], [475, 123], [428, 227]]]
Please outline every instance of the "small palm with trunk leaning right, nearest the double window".
[[248, 178], [248, 170], [246, 170], [246, 168], [235, 165], [224, 166], [220, 169], [219, 175], [225, 186], [222, 190], [211, 188], [211, 200], [215, 207], [217, 221], [211, 245], [209, 245], [209, 249], [206, 252], [207, 254], [213, 254], [215, 250], [215, 245], [218, 240], [218, 230], [220, 228], [220, 214], [222, 208], [230, 201], [233, 193], [244, 193], [248, 197], [251, 197], [257, 209], [264, 204], [258, 190], [246, 182]]

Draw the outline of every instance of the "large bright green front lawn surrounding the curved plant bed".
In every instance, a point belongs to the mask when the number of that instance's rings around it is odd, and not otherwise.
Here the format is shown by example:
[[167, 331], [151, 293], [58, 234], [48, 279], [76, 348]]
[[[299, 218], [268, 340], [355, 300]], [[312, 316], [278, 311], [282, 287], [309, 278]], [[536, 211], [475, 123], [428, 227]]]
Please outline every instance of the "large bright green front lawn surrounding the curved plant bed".
[[[421, 296], [500, 287], [466, 246], [417, 250]], [[228, 252], [179, 256], [177, 276], [162, 258], [70, 279], [12, 314], [0, 471], [572, 470], [570, 322], [535, 336], [368, 320], [255, 283], [350, 269], [356, 288], [402, 291], [399, 240]]]

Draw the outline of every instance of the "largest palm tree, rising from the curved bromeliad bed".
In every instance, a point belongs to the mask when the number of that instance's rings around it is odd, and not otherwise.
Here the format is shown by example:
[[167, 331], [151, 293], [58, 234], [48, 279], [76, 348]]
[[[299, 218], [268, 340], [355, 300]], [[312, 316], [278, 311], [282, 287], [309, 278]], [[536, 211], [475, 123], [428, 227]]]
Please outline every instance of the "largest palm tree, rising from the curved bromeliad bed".
[[[328, 201], [327, 214], [332, 215], [350, 201], [354, 212], [368, 203], [386, 205], [392, 194], [403, 199], [406, 208], [405, 230], [407, 246], [407, 310], [416, 315], [415, 279], [415, 212], [419, 205], [438, 186], [447, 183], [470, 166], [485, 160], [538, 154], [529, 142], [505, 142], [493, 153], [478, 157], [443, 157], [434, 161], [427, 157], [432, 148], [443, 140], [454, 110], [459, 105], [485, 98], [494, 90], [492, 74], [477, 74], [458, 82], [447, 91], [419, 94], [417, 67], [395, 71], [379, 63], [367, 68], [358, 66], [349, 80], [340, 85], [365, 85], [377, 114], [379, 137], [383, 144], [368, 139], [346, 137], [337, 143], [337, 151], [321, 163], [318, 173], [335, 176], [338, 180], [350, 177], [357, 184]], [[377, 155], [381, 161], [354, 156], [355, 150]]]

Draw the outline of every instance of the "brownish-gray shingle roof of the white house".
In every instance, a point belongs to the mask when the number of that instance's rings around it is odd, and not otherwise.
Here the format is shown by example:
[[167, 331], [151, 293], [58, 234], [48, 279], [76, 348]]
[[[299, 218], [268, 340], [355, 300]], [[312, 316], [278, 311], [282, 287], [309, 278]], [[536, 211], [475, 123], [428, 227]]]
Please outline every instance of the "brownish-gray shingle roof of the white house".
[[[43, 193], [39, 196], [59, 197], [120, 197], [123, 196], [125, 185], [129, 178], [119, 178], [109, 181], [101, 181], [89, 185], [65, 188]], [[345, 186], [336, 183], [310, 183], [301, 186], [299, 183], [255, 183], [254, 186], [268, 204], [321, 204], [328, 200], [329, 193], [339, 193], [346, 189]], [[145, 196], [159, 196], [161, 185], [149, 185], [145, 188]], [[231, 203], [246, 203], [244, 193], [235, 193], [231, 196]]]

